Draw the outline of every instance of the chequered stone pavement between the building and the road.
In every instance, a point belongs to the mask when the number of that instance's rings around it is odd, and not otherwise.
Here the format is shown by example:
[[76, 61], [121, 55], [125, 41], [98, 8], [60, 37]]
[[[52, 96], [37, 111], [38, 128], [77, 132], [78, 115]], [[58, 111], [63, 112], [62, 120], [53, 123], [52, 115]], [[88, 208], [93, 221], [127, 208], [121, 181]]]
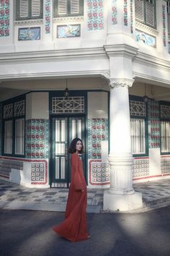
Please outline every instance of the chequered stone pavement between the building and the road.
[[[170, 179], [142, 182], [133, 184], [133, 187], [135, 191], [142, 192], [143, 208], [127, 213], [142, 213], [170, 205]], [[106, 213], [102, 210], [104, 189], [88, 188], [87, 191], [87, 213]], [[66, 188], [28, 188], [0, 179], [0, 209], [3, 210], [64, 212], [67, 197]]]

